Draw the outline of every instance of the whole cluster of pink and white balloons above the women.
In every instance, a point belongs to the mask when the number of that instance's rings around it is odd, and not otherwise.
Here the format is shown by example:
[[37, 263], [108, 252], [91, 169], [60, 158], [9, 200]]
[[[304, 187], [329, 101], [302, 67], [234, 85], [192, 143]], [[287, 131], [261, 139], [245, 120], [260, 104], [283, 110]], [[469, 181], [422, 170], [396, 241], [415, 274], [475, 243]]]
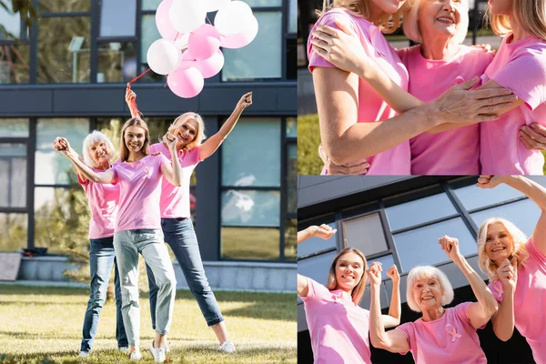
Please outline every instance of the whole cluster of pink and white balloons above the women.
[[[207, 13], [217, 11], [214, 25]], [[217, 75], [224, 66], [219, 47], [240, 48], [258, 34], [252, 9], [238, 0], [163, 0], [157, 6], [156, 25], [162, 39], [147, 51], [147, 64], [177, 96], [197, 96], [204, 78]]]

